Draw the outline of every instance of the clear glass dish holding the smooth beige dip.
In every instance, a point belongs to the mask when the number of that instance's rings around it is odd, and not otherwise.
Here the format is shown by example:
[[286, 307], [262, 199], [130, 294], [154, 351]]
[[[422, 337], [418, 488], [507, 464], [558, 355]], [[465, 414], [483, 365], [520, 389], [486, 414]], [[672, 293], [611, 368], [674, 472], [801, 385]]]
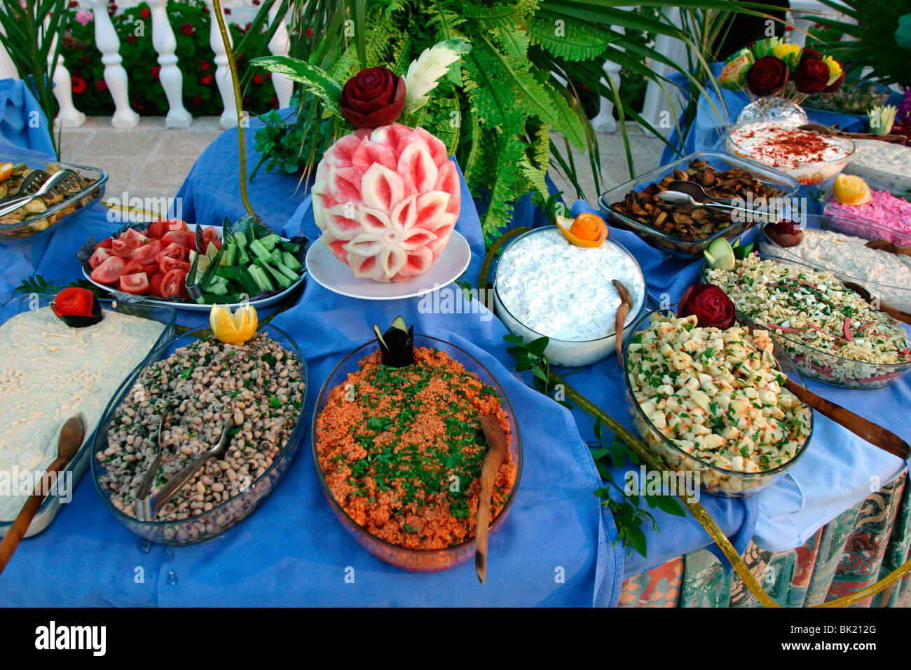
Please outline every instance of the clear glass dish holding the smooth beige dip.
[[[10, 298], [2, 307], [0, 307], [0, 324], [5, 324], [6, 321], [14, 317], [16, 314], [22, 314], [34, 309], [41, 309], [48, 306], [53, 302], [53, 296], [45, 294], [25, 294], [25, 295], [15, 295]], [[174, 319], [177, 316], [177, 313], [173, 308], [164, 306], [164, 305], [144, 305], [144, 304], [123, 304], [116, 303], [110, 300], [100, 300], [98, 301], [101, 304], [101, 309], [107, 312], [118, 312], [119, 314], [129, 314], [131, 316], [138, 316], [143, 319], [150, 319], [152, 321], [158, 321], [160, 324], [164, 325], [164, 329], [161, 331], [158, 340], [151, 346], [148, 347], [147, 356], [143, 356], [142, 361], [138, 364], [137, 368], [129, 373], [127, 379], [136, 374], [136, 370], [145, 366], [146, 361], [148, 360], [148, 354], [152, 352], [155, 348], [161, 345], [162, 342], [166, 341], [174, 332]], [[119, 389], [122, 388], [123, 383], [121, 382], [118, 386], [118, 390], [115, 391], [115, 394], [119, 392]], [[76, 456], [67, 464], [67, 467], [60, 472], [60, 478], [67, 483], [67, 489], [70, 494], [73, 492], [73, 487], [77, 484], [79, 479], [82, 478], [85, 474], [88, 467], [88, 452], [90, 451], [89, 445], [94, 443], [95, 440], [95, 431], [97, 426], [101, 425], [100, 418], [103, 418], [102, 413], [98, 413], [95, 417], [86, 417], [87, 426], [85, 441], [82, 444], [82, 447], [77, 451]], [[51, 521], [54, 521], [57, 513], [60, 511], [61, 506], [65, 504], [68, 500], [63, 500], [61, 493], [64, 491], [51, 490], [50, 493], [46, 496], [45, 500], [41, 503], [41, 506], [38, 508], [38, 511], [35, 515], [35, 518], [28, 526], [25, 537], [31, 537], [37, 533], [44, 531], [47, 526], [50, 525]], [[7, 531], [9, 531], [10, 526], [13, 525], [13, 521], [0, 521], [0, 537], [3, 537]]]

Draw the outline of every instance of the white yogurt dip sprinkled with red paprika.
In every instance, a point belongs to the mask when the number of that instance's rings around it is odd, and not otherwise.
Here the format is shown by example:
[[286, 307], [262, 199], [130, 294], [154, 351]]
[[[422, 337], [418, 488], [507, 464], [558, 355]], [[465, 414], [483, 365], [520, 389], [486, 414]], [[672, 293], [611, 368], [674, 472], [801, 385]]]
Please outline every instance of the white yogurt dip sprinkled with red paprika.
[[815, 184], [844, 170], [854, 142], [774, 121], [738, 125], [728, 131], [728, 150], [783, 170], [802, 184]]

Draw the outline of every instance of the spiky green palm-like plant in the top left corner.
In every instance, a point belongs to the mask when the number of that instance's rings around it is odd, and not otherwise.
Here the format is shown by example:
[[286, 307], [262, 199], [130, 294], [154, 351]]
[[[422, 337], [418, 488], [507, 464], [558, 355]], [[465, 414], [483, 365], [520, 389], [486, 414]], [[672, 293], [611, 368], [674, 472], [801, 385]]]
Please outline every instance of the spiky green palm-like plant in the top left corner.
[[[59, 37], [64, 28], [65, 1], [0, 0], [0, 43], [12, 59], [19, 77], [35, 94], [48, 123], [56, 114], [51, 82], [62, 44]], [[57, 140], [53, 131], [48, 129], [48, 132], [59, 158]]]

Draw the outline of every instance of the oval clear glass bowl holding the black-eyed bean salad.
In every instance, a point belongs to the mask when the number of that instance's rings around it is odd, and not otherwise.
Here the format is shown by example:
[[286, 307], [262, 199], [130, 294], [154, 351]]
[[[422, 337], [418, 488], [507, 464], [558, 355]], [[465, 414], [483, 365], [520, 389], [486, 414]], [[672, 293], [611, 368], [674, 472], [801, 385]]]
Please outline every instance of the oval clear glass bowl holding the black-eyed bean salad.
[[[302, 356], [301, 350], [294, 342], [291, 335], [288, 335], [281, 328], [271, 324], [260, 324], [257, 332], [265, 331], [272, 340], [281, 345], [285, 350], [292, 353], [300, 364], [301, 379], [303, 382], [302, 394], [307, 396], [307, 385], [309, 379], [307, 376], [307, 362]], [[92, 479], [95, 481], [95, 490], [101, 497], [108, 510], [110, 510], [118, 521], [123, 523], [130, 531], [135, 532], [139, 537], [145, 538], [152, 542], [161, 542], [164, 544], [192, 544], [219, 535], [227, 531], [231, 526], [242, 521], [249, 516], [253, 510], [265, 500], [275, 486], [281, 480], [282, 475], [291, 465], [294, 454], [301, 444], [303, 436], [304, 423], [306, 420], [303, 411], [303, 401], [301, 408], [298, 410], [297, 420], [292, 428], [291, 435], [288, 437], [284, 446], [281, 448], [278, 456], [272, 460], [271, 465], [266, 468], [259, 477], [253, 479], [249, 488], [241, 489], [241, 493], [225, 500], [209, 511], [204, 511], [197, 516], [191, 516], [187, 519], [177, 521], [138, 521], [136, 517], [118, 510], [111, 501], [110, 491], [101, 483], [101, 477], [105, 474], [104, 464], [97, 458], [97, 455], [107, 449], [107, 432], [111, 421], [114, 417], [114, 411], [127, 397], [136, 383], [140, 373], [152, 363], [164, 360], [174, 353], [181, 346], [190, 345], [204, 335], [210, 335], [208, 328], [198, 328], [191, 330], [189, 333], [177, 335], [169, 339], [163, 345], [160, 345], [146, 359], [143, 366], [140, 366], [124, 384], [118, 389], [118, 392], [111, 398], [107, 404], [104, 417], [95, 436], [92, 461]]]

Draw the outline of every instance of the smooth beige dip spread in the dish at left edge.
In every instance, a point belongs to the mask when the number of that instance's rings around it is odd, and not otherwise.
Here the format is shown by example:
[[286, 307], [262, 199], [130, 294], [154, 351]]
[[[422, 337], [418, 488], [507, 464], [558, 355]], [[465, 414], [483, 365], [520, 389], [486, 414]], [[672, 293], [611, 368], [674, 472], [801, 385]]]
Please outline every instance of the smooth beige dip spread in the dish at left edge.
[[96, 325], [70, 328], [43, 307], [0, 326], [0, 477], [9, 479], [10, 492], [0, 495], [0, 521], [13, 521], [31, 493], [18, 490], [23, 473], [34, 480], [56, 459], [67, 418], [81, 414], [91, 435], [114, 391], [165, 327], [111, 310], [104, 315]]

